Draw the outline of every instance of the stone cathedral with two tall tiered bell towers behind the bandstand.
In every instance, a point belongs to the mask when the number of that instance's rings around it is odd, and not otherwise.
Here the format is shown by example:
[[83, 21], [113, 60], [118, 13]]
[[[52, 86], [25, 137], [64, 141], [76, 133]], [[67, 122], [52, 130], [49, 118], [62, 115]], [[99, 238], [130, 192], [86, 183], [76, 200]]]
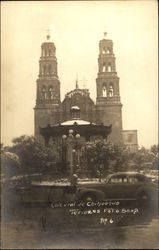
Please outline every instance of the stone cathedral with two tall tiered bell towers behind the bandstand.
[[65, 94], [61, 100], [61, 83], [58, 76], [56, 47], [47, 35], [41, 45], [39, 76], [35, 111], [35, 136], [41, 138], [40, 128], [61, 124], [71, 119], [71, 108], [80, 109], [80, 119], [97, 125], [111, 126], [107, 140], [115, 144], [124, 143], [137, 149], [137, 131], [122, 128], [122, 103], [120, 100], [119, 77], [116, 71], [113, 42], [104, 38], [99, 41], [98, 72], [96, 78], [96, 103], [87, 88], [75, 89]]

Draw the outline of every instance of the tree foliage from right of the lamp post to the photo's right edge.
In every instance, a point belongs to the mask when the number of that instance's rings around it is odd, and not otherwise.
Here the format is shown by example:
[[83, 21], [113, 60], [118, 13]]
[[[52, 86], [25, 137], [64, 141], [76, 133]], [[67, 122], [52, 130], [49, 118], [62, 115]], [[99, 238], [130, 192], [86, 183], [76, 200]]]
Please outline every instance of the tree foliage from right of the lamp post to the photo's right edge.
[[116, 145], [104, 140], [87, 142], [82, 147], [82, 155], [87, 160], [88, 168], [93, 172], [143, 170], [158, 166], [158, 145], [151, 149], [144, 147], [131, 152], [123, 145]]

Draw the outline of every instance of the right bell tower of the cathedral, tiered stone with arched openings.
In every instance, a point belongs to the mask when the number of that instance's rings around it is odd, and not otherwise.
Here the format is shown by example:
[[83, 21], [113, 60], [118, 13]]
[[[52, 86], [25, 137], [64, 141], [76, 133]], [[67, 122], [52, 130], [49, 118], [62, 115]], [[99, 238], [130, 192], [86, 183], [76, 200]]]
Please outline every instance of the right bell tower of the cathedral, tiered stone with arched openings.
[[119, 77], [116, 72], [113, 42], [106, 36], [107, 33], [104, 32], [104, 39], [99, 42], [96, 104], [102, 114], [101, 122], [104, 125], [112, 124], [112, 133], [108, 139], [114, 143], [122, 143], [122, 104]]

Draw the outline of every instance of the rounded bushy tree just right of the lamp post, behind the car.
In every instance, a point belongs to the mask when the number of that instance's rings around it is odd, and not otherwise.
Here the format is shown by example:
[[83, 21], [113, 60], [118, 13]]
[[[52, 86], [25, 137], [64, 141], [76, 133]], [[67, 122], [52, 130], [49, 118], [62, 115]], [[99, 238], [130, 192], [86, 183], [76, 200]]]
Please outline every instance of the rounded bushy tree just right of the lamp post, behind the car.
[[125, 170], [130, 155], [126, 147], [104, 140], [86, 142], [82, 147], [82, 156], [87, 161], [88, 169], [94, 173]]

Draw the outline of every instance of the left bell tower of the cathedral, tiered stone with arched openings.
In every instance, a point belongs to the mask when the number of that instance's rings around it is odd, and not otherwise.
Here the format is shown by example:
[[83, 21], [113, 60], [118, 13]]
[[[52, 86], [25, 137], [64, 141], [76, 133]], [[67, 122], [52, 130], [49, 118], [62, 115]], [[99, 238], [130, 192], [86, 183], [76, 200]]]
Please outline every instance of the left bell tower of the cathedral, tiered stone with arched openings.
[[50, 34], [41, 45], [39, 75], [36, 81], [35, 136], [39, 135], [39, 127], [56, 123], [55, 117], [60, 106], [60, 81], [57, 72], [56, 47], [50, 41]]

